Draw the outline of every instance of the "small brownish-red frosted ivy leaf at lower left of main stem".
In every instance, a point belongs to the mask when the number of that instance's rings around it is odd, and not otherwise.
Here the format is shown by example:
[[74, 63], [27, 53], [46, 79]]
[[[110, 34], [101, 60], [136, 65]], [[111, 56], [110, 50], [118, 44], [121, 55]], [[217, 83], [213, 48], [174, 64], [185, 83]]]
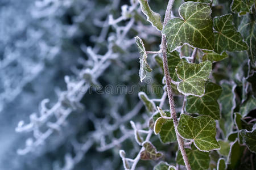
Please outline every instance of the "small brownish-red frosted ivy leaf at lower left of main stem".
[[156, 151], [154, 145], [151, 142], [143, 143], [144, 151], [141, 152], [142, 160], [158, 160], [163, 156], [161, 152]]

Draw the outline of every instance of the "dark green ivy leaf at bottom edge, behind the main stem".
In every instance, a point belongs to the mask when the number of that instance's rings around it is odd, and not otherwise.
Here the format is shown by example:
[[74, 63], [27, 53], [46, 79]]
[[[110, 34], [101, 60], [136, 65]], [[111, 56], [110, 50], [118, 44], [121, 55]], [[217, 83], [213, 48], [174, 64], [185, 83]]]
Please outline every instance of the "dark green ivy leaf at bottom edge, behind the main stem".
[[[192, 149], [185, 148], [191, 168], [196, 170], [208, 169], [210, 164], [209, 153], [199, 151], [193, 145], [191, 148]], [[180, 150], [177, 152], [176, 161], [178, 164], [185, 165]]]

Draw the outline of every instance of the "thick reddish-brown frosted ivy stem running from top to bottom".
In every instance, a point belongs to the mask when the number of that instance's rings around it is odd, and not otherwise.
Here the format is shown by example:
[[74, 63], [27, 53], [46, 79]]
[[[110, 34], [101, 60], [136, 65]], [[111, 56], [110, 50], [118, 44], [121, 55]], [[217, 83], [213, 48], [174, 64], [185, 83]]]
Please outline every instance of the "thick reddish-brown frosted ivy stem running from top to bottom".
[[[163, 27], [166, 25], [168, 20], [171, 19], [172, 5], [174, 5], [174, 1], [175, 0], [170, 0], [168, 2], [167, 9], [166, 9], [166, 14], [164, 16]], [[191, 170], [191, 166], [188, 162], [188, 156], [185, 152], [185, 148], [184, 148], [184, 145], [183, 145], [183, 139], [181, 139], [181, 137], [180, 137], [180, 135], [177, 131], [178, 121], [177, 121], [177, 115], [176, 115], [175, 104], [174, 104], [174, 95], [172, 93], [172, 87], [171, 87], [172, 78], [170, 76], [169, 69], [168, 69], [166, 42], [167, 42], [166, 36], [163, 35], [163, 33], [162, 33], [161, 49], [162, 49], [162, 54], [163, 54], [164, 76], [166, 77], [166, 86], [167, 86], [167, 94], [168, 94], [169, 104], [170, 104], [171, 117], [174, 120], [174, 129], [175, 129], [175, 133], [176, 133], [176, 137], [177, 137], [177, 142], [178, 142], [178, 145], [179, 145], [179, 148], [180, 148], [180, 151], [181, 151], [181, 155], [183, 156], [185, 167], [188, 170]]]

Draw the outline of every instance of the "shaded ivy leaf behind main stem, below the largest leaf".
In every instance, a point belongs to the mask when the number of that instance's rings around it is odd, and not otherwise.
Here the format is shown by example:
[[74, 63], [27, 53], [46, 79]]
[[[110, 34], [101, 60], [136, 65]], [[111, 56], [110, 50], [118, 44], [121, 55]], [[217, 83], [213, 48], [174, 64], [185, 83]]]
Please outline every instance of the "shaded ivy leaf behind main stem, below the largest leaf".
[[[155, 57], [156, 62], [158, 62], [158, 65], [160, 67], [162, 67], [163, 69], [163, 60], [161, 57]], [[168, 68], [169, 68], [169, 72], [170, 72], [170, 76], [174, 81], [178, 81], [179, 79], [177, 78], [177, 74], [175, 73], [175, 68], [177, 66], [178, 63], [180, 63], [182, 61], [182, 59], [180, 59], [179, 53], [177, 53], [176, 51], [170, 53], [167, 52], [167, 61], [168, 61]]]

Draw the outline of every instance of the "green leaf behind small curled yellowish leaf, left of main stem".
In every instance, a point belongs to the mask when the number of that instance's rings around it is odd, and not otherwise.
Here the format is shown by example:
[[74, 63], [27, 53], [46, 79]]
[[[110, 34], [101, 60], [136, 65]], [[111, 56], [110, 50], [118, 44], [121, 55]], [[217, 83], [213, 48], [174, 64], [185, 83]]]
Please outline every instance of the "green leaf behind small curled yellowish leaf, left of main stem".
[[[170, 112], [166, 112], [166, 114], [168, 117], [171, 116]], [[160, 113], [156, 113], [153, 116], [153, 120], [158, 120], [158, 118], [160, 118]], [[177, 141], [173, 120], [166, 120], [159, 132], [159, 138], [163, 144], [170, 144]]]

